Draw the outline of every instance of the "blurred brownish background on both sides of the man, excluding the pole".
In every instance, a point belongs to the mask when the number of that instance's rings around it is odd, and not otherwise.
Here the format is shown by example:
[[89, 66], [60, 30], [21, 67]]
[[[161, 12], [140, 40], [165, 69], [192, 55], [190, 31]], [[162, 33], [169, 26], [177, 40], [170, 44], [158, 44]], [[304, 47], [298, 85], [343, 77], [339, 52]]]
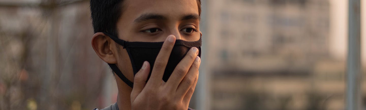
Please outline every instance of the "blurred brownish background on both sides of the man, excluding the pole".
[[[361, 32], [366, 32], [361, 0]], [[202, 0], [199, 110], [344, 110], [348, 0]], [[0, 110], [116, 102], [89, 0], [0, 0]], [[365, 76], [366, 34], [361, 34]], [[366, 105], [366, 81], [361, 80]]]

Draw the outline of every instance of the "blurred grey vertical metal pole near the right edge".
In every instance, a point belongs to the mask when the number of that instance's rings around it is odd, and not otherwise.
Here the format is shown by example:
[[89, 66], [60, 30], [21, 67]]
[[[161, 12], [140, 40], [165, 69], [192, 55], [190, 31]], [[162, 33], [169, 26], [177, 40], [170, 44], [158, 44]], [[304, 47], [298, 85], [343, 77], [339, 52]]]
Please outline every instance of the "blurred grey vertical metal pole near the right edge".
[[360, 8], [360, 0], [349, 0], [346, 110], [361, 110]]

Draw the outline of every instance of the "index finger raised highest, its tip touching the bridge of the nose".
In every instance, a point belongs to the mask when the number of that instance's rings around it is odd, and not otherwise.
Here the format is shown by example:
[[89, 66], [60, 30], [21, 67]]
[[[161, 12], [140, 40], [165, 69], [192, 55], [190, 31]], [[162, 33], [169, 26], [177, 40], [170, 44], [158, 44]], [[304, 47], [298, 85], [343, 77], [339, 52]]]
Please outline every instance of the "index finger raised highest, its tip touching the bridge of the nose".
[[161, 50], [156, 57], [154, 67], [150, 76], [149, 80], [152, 80], [153, 83], [161, 83], [161, 80], [163, 79], [165, 67], [167, 66], [168, 59], [170, 56], [170, 53], [172, 52], [173, 46], [175, 43], [175, 36], [169, 35], [167, 39], [165, 40], [163, 47], [161, 47]]

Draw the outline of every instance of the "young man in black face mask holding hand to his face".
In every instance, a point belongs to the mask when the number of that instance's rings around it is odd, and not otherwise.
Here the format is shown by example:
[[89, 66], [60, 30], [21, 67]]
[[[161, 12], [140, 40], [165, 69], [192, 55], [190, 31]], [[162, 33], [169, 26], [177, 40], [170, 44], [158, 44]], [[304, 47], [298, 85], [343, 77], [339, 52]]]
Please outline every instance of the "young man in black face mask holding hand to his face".
[[103, 110], [190, 110], [200, 0], [90, 0], [90, 11], [91, 45], [118, 76], [117, 102]]

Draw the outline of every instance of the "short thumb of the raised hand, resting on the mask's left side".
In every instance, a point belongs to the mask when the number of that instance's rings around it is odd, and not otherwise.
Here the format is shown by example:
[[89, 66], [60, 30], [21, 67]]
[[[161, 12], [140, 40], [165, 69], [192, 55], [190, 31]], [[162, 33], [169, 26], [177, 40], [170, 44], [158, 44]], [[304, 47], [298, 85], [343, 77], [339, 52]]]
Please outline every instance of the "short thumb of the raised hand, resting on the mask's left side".
[[150, 64], [149, 62], [143, 62], [141, 69], [136, 73], [134, 78], [134, 87], [131, 91], [131, 102], [135, 100], [138, 94], [141, 93], [146, 85], [147, 76], [149, 76]]

